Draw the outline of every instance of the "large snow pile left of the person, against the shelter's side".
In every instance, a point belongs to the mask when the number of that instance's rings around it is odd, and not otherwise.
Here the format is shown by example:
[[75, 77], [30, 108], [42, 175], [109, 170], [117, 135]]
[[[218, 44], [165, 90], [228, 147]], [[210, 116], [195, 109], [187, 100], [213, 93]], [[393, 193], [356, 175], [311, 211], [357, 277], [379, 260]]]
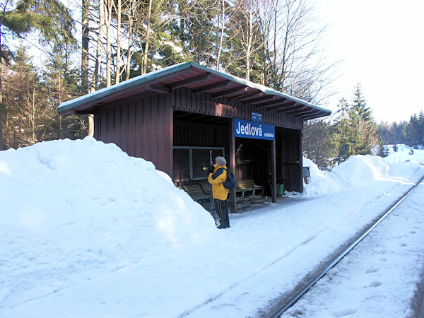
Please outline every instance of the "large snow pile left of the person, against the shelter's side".
[[75, 273], [93, 278], [218, 231], [153, 163], [90, 137], [1, 151], [0, 184], [8, 305], [35, 289], [52, 293]]

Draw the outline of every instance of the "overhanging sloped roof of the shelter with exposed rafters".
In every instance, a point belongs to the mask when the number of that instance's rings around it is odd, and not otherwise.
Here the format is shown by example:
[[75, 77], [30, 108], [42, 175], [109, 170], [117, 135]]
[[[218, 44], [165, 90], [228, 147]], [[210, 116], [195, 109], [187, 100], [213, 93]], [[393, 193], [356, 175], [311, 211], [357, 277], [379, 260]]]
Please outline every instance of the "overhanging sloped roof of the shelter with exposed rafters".
[[169, 94], [182, 87], [192, 89], [194, 94], [208, 92], [213, 98], [239, 100], [242, 105], [254, 105], [258, 112], [266, 109], [268, 112], [285, 113], [305, 120], [331, 114], [330, 110], [305, 100], [193, 62], [169, 66], [62, 102], [57, 111], [59, 114], [89, 114], [95, 107], [131, 95], [143, 92]]

